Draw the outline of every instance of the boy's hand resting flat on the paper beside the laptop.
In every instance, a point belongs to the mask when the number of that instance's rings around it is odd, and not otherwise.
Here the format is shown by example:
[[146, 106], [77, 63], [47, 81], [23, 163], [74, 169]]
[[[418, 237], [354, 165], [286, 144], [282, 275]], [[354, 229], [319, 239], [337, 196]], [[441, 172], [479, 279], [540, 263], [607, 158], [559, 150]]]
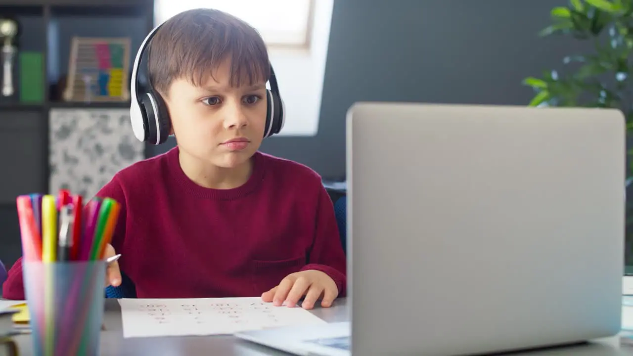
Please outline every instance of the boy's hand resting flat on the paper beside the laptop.
[[330, 276], [320, 270], [303, 270], [289, 274], [282, 279], [279, 286], [263, 293], [261, 298], [278, 307], [284, 302], [288, 307], [294, 307], [302, 296], [306, 296], [301, 307], [311, 309], [319, 298], [322, 298], [322, 307], [330, 307], [338, 295], [339, 288]]

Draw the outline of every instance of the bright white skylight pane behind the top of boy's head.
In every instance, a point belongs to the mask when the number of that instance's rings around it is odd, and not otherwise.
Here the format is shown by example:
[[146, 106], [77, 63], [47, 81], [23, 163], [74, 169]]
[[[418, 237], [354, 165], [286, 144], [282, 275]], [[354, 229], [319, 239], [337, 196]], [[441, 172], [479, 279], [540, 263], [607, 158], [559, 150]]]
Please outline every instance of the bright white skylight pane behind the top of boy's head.
[[315, 0], [157, 0], [156, 23], [194, 8], [214, 8], [248, 22], [269, 48], [310, 46]]

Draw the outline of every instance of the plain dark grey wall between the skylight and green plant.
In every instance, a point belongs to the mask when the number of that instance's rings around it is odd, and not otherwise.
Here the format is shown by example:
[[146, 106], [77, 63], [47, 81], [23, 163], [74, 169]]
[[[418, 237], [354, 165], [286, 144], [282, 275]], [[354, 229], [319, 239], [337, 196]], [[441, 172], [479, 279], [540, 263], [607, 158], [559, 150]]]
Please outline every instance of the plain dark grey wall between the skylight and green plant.
[[565, 3], [335, 0], [318, 134], [273, 137], [261, 150], [342, 178], [345, 114], [354, 101], [525, 105], [532, 90], [523, 77], [586, 46], [537, 35], [551, 8]]

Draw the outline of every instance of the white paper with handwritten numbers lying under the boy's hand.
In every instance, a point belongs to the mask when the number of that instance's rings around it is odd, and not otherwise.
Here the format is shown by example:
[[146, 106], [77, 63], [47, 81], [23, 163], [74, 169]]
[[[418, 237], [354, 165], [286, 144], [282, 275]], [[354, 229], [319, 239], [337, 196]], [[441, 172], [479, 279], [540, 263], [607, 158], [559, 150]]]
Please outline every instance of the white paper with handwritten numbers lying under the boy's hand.
[[234, 334], [268, 327], [325, 324], [300, 307], [261, 298], [120, 299], [123, 337]]

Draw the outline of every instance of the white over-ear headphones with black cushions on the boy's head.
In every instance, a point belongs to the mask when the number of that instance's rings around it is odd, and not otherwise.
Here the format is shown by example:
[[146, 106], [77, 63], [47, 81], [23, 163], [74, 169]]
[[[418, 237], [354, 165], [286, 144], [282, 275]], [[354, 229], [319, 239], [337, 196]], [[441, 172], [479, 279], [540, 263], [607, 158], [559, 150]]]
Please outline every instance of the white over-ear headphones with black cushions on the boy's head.
[[[149, 83], [149, 91], [146, 93], [138, 92], [138, 80], [139, 80], [139, 67], [141, 65], [141, 57], [147, 48], [149, 41], [156, 30], [160, 29], [161, 25], [151, 30], [145, 40], [141, 44], [136, 59], [134, 60], [134, 67], [132, 67], [132, 79], [130, 83], [130, 96], [132, 96], [132, 102], [130, 103], [130, 120], [132, 121], [132, 130], [134, 136], [139, 141], [147, 141], [152, 144], [164, 143], [169, 136], [171, 120], [169, 118], [169, 111], [165, 101], [161, 98], [158, 92], [154, 91], [151, 83]], [[284, 100], [279, 94], [279, 87], [277, 86], [277, 79], [272, 66], [270, 67], [270, 89], [266, 90], [266, 129], [264, 131], [264, 137], [270, 137], [284, 128], [285, 122], [285, 106]]]

